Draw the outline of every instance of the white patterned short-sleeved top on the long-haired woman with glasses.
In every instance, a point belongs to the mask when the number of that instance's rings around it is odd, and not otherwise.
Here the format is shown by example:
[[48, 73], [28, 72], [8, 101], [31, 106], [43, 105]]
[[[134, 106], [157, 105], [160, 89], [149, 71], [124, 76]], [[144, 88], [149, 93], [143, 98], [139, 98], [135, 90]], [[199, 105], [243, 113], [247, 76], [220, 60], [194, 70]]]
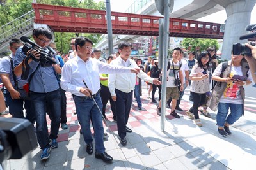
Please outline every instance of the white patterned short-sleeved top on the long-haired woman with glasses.
[[[205, 70], [200, 68], [198, 64], [193, 66], [191, 73], [189, 74], [189, 77], [200, 77], [203, 74]], [[209, 71], [207, 71], [207, 74], [209, 75]], [[208, 78], [205, 78], [204, 80], [191, 80], [191, 86], [190, 86], [190, 91], [195, 92], [198, 94], [204, 94], [206, 92], [210, 91], [210, 85], [209, 85], [209, 76]]]

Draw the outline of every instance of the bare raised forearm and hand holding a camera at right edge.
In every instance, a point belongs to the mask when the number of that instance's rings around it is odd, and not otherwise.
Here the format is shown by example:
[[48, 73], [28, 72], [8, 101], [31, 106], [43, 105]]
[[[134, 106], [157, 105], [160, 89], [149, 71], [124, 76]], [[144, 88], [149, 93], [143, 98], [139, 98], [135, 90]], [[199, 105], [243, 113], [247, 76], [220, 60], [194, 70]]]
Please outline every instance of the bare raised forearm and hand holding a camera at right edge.
[[247, 60], [254, 83], [256, 83], [256, 46], [249, 45], [245, 43], [245, 45], [252, 50], [252, 55], [244, 55], [245, 59]]

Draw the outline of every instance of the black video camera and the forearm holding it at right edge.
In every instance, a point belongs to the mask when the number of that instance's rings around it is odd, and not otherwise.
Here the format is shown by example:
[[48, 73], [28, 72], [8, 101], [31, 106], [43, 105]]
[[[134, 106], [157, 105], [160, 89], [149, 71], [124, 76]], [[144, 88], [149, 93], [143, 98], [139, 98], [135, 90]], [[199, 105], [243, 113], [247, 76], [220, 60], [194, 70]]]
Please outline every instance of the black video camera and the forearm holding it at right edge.
[[[250, 39], [256, 37], [256, 24], [251, 24], [246, 26], [246, 31], [253, 31], [248, 34], [244, 34], [239, 37], [240, 40], [243, 39]], [[234, 55], [244, 55], [244, 58], [247, 60], [250, 71], [252, 73], [252, 78], [254, 83], [256, 83], [256, 46], [255, 41], [252, 41], [250, 43], [240, 44], [236, 43], [233, 45], [233, 52]]]

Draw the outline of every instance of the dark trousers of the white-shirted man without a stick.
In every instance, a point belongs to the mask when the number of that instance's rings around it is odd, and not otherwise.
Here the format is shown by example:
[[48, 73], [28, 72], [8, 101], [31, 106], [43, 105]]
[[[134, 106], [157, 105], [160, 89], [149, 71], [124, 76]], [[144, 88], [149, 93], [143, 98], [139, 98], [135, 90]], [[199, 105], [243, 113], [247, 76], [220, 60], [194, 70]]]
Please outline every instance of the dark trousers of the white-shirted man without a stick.
[[131, 105], [132, 105], [132, 93], [122, 92], [115, 89], [116, 92], [116, 120], [117, 120], [117, 131], [120, 138], [126, 136], [126, 124], [128, 122]]

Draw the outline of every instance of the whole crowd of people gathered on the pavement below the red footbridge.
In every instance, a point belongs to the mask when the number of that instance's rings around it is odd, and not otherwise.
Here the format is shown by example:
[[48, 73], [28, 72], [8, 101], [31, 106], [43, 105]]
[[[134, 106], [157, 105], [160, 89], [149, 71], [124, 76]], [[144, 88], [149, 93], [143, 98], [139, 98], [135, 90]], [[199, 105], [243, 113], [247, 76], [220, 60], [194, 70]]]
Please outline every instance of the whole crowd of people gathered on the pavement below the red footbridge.
[[[56, 50], [52, 32], [44, 27], [33, 30], [33, 39], [40, 48], [49, 46]], [[218, 110], [216, 124], [218, 132], [224, 137], [232, 134], [229, 126], [244, 114], [244, 85], [256, 81], [255, 46], [246, 44], [252, 49], [252, 56], [231, 53], [231, 60], [221, 64], [216, 60], [215, 48], [210, 47], [200, 52], [196, 59], [196, 53], [191, 51], [188, 59], [184, 59], [182, 49], [177, 47], [172, 50], [171, 59], [168, 59], [165, 104], [161, 102], [163, 70], [159, 69], [158, 60], [148, 57], [145, 64], [141, 59], [132, 60], [131, 43], [120, 43], [118, 52], [109, 55], [107, 59], [101, 57], [100, 50], [93, 50], [93, 42], [88, 38], [72, 38], [70, 46], [72, 52], [68, 57], [55, 55], [55, 62], [45, 66], [40, 60], [42, 53], [37, 48], [24, 52], [22, 41], [12, 39], [12, 53], [0, 61], [0, 77], [4, 84], [3, 93], [0, 92], [0, 115], [6, 118], [26, 118], [35, 124], [36, 137], [42, 149], [41, 160], [48, 159], [51, 149], [58, 148], [59, 127], [68, 128], [65, 92], [70, 92], [74, 99], [86, 152], [90, 155], [93, 153], [94, 139], [95, 157], [104, 162], [112, 162], [113, 158], [105, 152], [103, 140], [106, 136], [102, 124], [102, 120], [107, 118], [106, 104], [110, 102], [120, 143], [125, 146], [127, 132], [132, 132], [127, 123], [133, 95], [138, 110], [142, 110], [142, 81], [147, 82], [148, 98], [157, 104], [156, 114], [161, 115], [161, 107], [166, 106], [171, 108], [170, 115], [175, 118], [180, 118], [176, 110], [183, 111], [180, 101], [189, 85], [193, 106], [186, 111], [186, 115], [198, 127], [202, 127], [198, 111], [211, 117], [207, 106], [211, 110]], [[211, 92], [212, 80], [216, 83]], [[24, 97], [19, 89], [27, 90], [27, 96]], [[158, 102], [155, 98], [157, 89]], [[228, 114], [229, 108], [231, 112]], [[46, 115], [51, 119], [50, 131]]]

